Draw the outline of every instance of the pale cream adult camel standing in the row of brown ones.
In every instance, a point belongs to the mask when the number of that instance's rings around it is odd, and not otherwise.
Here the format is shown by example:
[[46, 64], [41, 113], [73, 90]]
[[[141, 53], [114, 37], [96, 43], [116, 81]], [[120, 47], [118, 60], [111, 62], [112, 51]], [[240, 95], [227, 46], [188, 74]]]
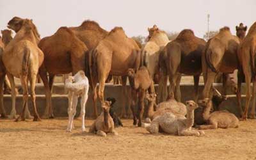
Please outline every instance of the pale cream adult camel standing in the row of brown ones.
[[[163, 50], [163, 47], [168, 44], [169, 39], [164, 31], [161, 31], [154, 25], [152, 28], [148, 28], [147, 43], [141, 49], [142, 65], [148, 68], [151, 78], [154, 80], [154, 76], [157, 72], [159, 52]], [[162, 81], [167, 81], [167, 77], [163, 77]], [[159, 83], [163, 84], [163, 83]], [[164, 91], [163, 91], [164, 89]], [[163, 102], [167, 98], [167, 88], [159, 86], [157, 102]]]

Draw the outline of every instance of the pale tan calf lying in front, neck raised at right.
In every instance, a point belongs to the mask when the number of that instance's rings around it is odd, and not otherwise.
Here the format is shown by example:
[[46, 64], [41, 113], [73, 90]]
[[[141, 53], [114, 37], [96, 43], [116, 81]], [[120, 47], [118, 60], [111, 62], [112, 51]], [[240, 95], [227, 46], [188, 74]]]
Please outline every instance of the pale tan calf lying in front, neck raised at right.
[[143, 127], [150, 133], [159, 132], [159, 127], [163, 132], [179, 136], [202, 136], [204, 131], [196, 131], [192, 128], [194, 124], [194, 110], [198, 105], [193, 100], [186, 101], [188, 111], [187, 118], [181, 115], [174, 115], [172, 112], [154, 118], [151, 124], [143, 124]]

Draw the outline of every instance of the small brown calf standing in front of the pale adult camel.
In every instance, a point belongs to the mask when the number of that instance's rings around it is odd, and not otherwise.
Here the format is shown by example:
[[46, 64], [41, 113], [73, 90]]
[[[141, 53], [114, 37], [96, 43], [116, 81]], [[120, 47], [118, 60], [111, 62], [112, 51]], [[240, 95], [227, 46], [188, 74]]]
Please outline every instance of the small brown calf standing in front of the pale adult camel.
[[132, 68], [127, 70], [130, 86], [132, 88], [132, 115], [133, 115], [133, 125], [137, 124], [135, 106], [138, 96], [138, 116], [139, 119], [138, 126], [141, 127], [141, 119], [144, 112], [144, 99], [145, 94], [148, 90], [148, 93], [155, 93], [154, 82], [150, 77], [150, 74], [146, 67], [140, 67], [139, 70], [135, 73]]

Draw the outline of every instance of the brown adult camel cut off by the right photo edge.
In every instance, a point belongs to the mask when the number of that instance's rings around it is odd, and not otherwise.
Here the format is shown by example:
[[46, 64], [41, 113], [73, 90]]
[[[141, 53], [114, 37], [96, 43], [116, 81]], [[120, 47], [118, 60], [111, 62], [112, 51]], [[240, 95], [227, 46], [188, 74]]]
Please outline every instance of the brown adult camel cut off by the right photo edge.
[[[244, 73], [245, 82], [246, 82], [246, 103], [244, 108], [244, 113], [242, 116], [242, 120], [246, 120], [248, 116], [248, 109], [250, 105], [251, 100], [251, 94], [252, 95], [252, 108], [250, 110], [250, 118], [256, 118], [255, 117], [255, 92], [256, 92], [256, 75], [255, 75], [255, 48], [256, 48], [256, 22], [253, 23], [253, 25], [250, 27], [247, 35], [244, 37], [243, 41], [241, 42], [241, 45], [238, 49], [238, 59], [239, 59], [239, 72]], [[242, 71], [243, 69], [243, 71]], [[253, 83], [253, 92], [251, 93], [251, 87], [250, 84]], [[241, 79], [239, 80], [238, 77], [238, 104], [241, 108]]]

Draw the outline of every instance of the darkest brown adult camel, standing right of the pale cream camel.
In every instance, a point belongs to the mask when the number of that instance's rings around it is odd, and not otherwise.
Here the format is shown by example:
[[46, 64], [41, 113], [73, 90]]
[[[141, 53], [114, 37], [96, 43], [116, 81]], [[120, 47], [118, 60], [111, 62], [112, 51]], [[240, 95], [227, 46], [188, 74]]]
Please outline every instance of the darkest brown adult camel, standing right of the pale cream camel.
[[[175, 40], [164, 47], [159, 56], [159, 67], [164, 75], [169, 76], [169, 98], [175, 97], [180, 102], [181, 74], [188, 74], [194, 76], [195, 100], [197, 100], [199, 77], [202, 72], [201, 57], [205, 44], [205, 40], [196, 37], [191, 29], [184, 29]], [[163, 86], [166, 88], [166, 81], [164, 83]]]

